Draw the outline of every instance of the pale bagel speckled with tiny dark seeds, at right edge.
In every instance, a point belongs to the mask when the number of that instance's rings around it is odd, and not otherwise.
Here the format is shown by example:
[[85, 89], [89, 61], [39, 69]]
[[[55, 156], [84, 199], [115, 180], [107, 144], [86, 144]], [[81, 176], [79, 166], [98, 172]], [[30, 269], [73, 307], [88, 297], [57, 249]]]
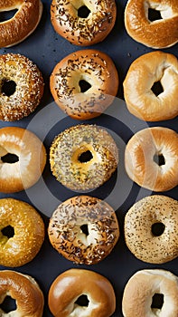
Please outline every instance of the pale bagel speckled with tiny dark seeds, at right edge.
[[172, 261], [178, 255], [177, 236], [178, 201], [173, 198], [145, 197], [126, 213], [126, 245], [144, 262], [162, 264]]

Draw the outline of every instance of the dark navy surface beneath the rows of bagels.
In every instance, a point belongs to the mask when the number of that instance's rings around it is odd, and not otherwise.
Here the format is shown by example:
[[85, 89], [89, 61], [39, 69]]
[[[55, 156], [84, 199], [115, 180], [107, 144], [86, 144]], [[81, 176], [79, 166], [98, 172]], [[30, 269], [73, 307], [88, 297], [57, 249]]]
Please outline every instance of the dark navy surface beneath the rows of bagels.
[[[65, 116], [63, 116], [62, 119], [61, 114], [59, 114], [59, 116], [61, 116], [59, 121], [55, 121], [52, 119], [52, 111], [55, 112], [55, 110], [57, 111], [58, 109], [53, 104], [52, 107], [48, 106], [53, 101], [49, 89], [49, 77], [53, 67], [57, 62], [61, 60], [61, 58], [69, 53], [78, 51], [83, 48], [68, 43], [66, 40], [61, 38], [60, 35], [54, 32], [50, 21], [51, 2], [49, 0], [42, 0], [42, 2], [42, 20], [35, 32], [25, 41], [23, 41], [23, 43], [20, 43], [12, 48], [0, 50], [0, 53], [22, 53], [30, 58], [33, 62], [35, 62], [41, 69], [45, 82], [41, 105], [38, 107], [37, 110], [35, 110], [32, 115], [30, 115], [26, 119], [15, 121], [13, 123], [1, 121], [0, 127], [10, 125], [23, 128], [28, 127], [28, 129], [33, 130], [33, 132], [36, 133], [39, 138], [44, 139], [44, 145], [49, 153], [49, 148], [55, 135], [61, 132], [61, 130], [64, 130], [72, 125], [76, 125], [79, 123], [79, 121], [71, 120], [70, 118], [67, 118]], [[130, 63], [133, 62], [136, 57], [140, 56], [141, 54], [153, 51], [152, 49], [146, 48], [142, 44], [136, 43], [126, 34], [124, 26], [125, 6], [126, 0], [117, 0], [117, 23], [115, 24], [113, 31], [111, 32], [111, 34], [108, 35], [108, 38], [103, 43], [98, 43], [92, 47], [89, 47], [108, 53], [108, 55], [115, 62], [120, 78], [120, 87], [117, 97], [121, 99], [123, 98], [122, 83], [126, 76], [126, 71]], [[174, 53], [178, 57], [178, 44], [176, 44], [172, 48], [164, 50], [164, 52]], [[44, 109], [46, 109], [46, 111]], [[50, 245], [46, 232], [45, 242], [42, 245], [40, 253], [35, 257], [35, 259], [33, 259], [31, 263], [26, 264], [23, 267], [15, 268], [15, 270], [18, 272], [33, 275], [33, 277], [40, 284], [42, 292], [45, 296], [43, 317], [52, 316], [47, 304], [47, 295], [52, 281], [58, 274], [61, 274], [61, 272], [71, 267], [82, 267], [93, 270], [98, 272], [99, 274], [105, 275], [109, 279], [109, 281], [114, 286], [117, 296], [117, 311], [114, 313], [113, 317], [122, 317], [121, 300], [124, 286], [129, 277], [137, 270], [144, 268], [164, 268], [170, 270], [171, 272], [173, 272], [173, 274], [178, 275], [177, 259], [167, 264], [161, 265], [145, 264], [141, 261], [136, 260], [135, 256], [131, 255], [131, 253], [126, 248], [123, 234], [123, 222], [124, 216], [126, 215], [126, 210], [134, 204], [136, 199], [138, 199], [139, 197], [145, 197], [147, 195], [150, 195], [151, 193], [146, 189], [140, 190], [140, 187], [138, 187], [136, 184], [132, 184], [132, 182], [126, 177], [123, 164], [124, 148], [127, 140], [133, 135], [133, 133], [136, 132], [136, 130], [140, 130], [143, 127], [146, 127], [147, 125], [140, 120], [136, 120], [132, 115], [128, 114], [128, 112], [125, 110], [124, 103], [120, 100], [116, 101], [114, 107], [111, 108], [108, 112], [109, 115], [105, 114], [100, 116], [96, 120], [90, 120], [87, 122], [96, 123], [108, 128], [109, 130], [114, 131], [116, 133], [113, 134], [114, 138], [118, 136], [117, 144], [120, 149], [120, 162], [118, 165], [119, 181], [117, 182], [117, 173], [115, 173], [115, 175], [110, 180], [108, 180], [106, 184], [89, 193], [89, 195], [98, 198], [106, 198], [108, 203], [112, 207], [116, 208], [121, 237], [112, 253], [108, 255], [108, 257], [100, 264], [92, 266], [79, 266], [72, 264], [70, 261], [64, 259], [61, 255], [58, 255], [58, 253], [52, 248], [52, 245]], [[37, 114], [39, 114], [39, 117], [37, 116]], [[32, 124], [34, 118], [41, 119], [34, 120], [34, 124]], [[51, 124], [51, 120], [53, 120], [52, 122], [54, 123]], [[149, 126], [164, 126], [172, 128], [173, 130], [177, 130], [177, 119], [154, 122], [150, 123]], [[47, 132], [43, 132], [44, 130]], [[45, 200], [45, 194], [42, 193], [39, 184], [34, 186], [27, 193], [23, 191], [12, 195], [1, 194], [0, 197], [15, 197], [17, 199], [22, 199], [26, 202], [31, 203], [41, 212], [47, 228], [49, 223], [49, 216], [52, 215], [52, 211], [56, 206], [57, 199], [64, 201], [67, 198], [75, 196], [76, 193], [73, 193], [69, 189], [62, 187], [61, 184], [59, 184], [52, 177], [49, 164], [46, 165], [46, 168], [44, 170], [43, 180], [52, 192], [52, 197], [54, 197], [53, 203], [50, 200]], [[114, 193], [113, 195], [112, 192]], [[177, 199], [177, 187], [173, 188], [169, 192], [164, 192], [163, 194]], [[32, 198], [33, 195], [35, 196], [35, 201]], [[42, 207], [42, 202], [45, 204], [45, 210]], [[5, 269], [5, 267], [1, 266], [0, 269], [3, 270]]]

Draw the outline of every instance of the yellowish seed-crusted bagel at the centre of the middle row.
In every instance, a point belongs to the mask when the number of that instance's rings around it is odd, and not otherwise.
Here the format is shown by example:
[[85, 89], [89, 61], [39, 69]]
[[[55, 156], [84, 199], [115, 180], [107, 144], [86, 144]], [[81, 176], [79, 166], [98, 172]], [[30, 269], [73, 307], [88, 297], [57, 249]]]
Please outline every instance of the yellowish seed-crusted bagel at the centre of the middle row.
[[114, 139], [95, 125], [77, 125], [62, 131], [52, 142], [53, 176], [72, 190], [94, 189], [105, 183], [117, 168]]

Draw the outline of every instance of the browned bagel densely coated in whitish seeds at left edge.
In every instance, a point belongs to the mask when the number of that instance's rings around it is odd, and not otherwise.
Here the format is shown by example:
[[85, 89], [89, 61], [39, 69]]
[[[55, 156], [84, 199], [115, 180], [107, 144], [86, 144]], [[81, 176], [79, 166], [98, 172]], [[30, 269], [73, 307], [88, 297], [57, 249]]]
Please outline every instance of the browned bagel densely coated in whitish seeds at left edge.
[[27, 57], [0, 55], [0, 120], [28, 116], [39, 105], [43, 93], [42, 73]]

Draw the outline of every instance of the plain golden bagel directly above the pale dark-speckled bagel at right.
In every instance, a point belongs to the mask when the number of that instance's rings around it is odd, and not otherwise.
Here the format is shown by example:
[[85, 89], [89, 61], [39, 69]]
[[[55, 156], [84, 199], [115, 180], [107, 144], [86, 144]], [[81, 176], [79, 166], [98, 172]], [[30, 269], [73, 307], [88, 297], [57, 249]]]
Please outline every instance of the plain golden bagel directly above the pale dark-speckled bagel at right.
[[178, 135], [154, 127], [136, 132], [126, 144], [126, 173], [141, 187], [154, 191], [178, 185]]

